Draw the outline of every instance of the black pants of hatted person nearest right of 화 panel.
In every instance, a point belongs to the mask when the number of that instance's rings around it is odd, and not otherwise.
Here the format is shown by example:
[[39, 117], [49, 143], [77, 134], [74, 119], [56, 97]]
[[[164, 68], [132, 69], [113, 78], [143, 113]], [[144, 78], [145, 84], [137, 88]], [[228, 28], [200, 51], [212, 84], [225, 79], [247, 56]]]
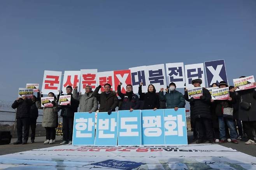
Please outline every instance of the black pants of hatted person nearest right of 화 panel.
[[[208, 139], [213, 141], [212, 120], [209, 118], [196, 118], [196, 130], [200, 140]], [[204, 135], [205, 134], [205, 135]]]

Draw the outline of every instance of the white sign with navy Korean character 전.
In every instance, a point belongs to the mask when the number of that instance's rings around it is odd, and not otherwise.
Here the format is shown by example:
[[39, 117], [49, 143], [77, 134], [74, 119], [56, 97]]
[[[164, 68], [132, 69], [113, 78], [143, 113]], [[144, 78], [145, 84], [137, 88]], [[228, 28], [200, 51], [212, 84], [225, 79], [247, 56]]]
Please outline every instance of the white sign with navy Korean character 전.
[[167, 73], [167, 85], [174, 82], [176, 84], [176, 88], [184, 88], [185, 71], [183, 62], [167, 63], [165, 66]]

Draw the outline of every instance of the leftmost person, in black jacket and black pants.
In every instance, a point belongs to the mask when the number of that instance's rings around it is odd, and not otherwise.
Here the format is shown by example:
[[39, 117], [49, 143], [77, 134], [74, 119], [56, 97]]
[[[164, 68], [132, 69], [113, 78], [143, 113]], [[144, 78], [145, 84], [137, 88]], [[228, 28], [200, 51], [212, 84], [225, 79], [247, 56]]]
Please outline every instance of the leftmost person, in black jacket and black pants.
[[[13, 102], [12, 108], [16, 110], [16, 123], [17, 123], [17, 135], [18, 140], [13, 144], [27, 144], [29, 135], [29, 120], [30, 120], [30, 106], [32, 105], [32, 100], [26, 97], [17, 98]], [[24, 128], [24, 133], [22, 129]], [[24, 136], [23, 136], [24, 134]], [[22, 140], [23, 136], [23, 140]]]

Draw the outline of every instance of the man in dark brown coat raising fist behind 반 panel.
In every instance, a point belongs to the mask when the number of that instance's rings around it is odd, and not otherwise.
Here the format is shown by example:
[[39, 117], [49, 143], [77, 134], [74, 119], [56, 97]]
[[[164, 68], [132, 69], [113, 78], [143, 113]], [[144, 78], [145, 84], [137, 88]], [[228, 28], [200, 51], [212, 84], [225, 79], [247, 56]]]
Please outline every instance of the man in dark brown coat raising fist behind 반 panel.
[[111, 85], [106, 83], [104, 85], [105, 91], [98, 94], [101, 87], [101, 85], [96, 87], [95, 91], [93, 92], [93, 96], [96, 97], [100, 103], [99, 112], [107, 112], [108, 114], [111, 114], [112, 111], [116, 111], [116, 107], [118, 106], [116, 92], [110, 90]]

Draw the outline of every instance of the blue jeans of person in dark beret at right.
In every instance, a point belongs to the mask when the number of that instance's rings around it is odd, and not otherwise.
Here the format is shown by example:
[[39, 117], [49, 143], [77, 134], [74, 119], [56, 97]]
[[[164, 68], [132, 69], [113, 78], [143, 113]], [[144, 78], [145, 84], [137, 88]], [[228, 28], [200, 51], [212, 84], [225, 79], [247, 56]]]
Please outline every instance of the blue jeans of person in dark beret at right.
[[219, 120], [219, 137], [222, 140], [226, 140], [226, 130], [225, 123], [228, 125], [230, 130], [230, 138], [232, 140], [237, 139], [237, 132], [235, 131], [235, 124], [232, 118], [223, 118], [223, 116], [218, 116]]

